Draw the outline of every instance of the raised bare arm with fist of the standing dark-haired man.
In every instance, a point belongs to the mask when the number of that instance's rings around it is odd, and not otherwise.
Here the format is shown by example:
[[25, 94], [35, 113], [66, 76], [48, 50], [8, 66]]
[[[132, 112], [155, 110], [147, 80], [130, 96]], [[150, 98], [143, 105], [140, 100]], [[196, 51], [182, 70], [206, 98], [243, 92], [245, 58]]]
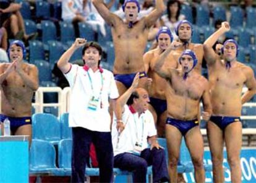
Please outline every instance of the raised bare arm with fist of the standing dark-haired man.
[[70, 46], [70, 48], [67, 49], [67, 51], [64, 54], [62, 54], [62, 56], [59, 58], [59, 61], [57, 62], [57, 66], [63, 73], [68, 72], [70, 69], [69, 59], [72, 56], [72, 54], [74, 54], [77, 48], [85, 45], [85, 43], [86, 43], [85, 39], [76, 38], [73, 45]]

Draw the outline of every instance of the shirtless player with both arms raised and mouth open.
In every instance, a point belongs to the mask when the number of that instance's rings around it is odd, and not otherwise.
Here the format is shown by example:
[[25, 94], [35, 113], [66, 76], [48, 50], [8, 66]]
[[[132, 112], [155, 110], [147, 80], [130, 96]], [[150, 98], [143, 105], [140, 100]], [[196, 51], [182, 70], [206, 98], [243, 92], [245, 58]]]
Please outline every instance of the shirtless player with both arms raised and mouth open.
[[[163, 0], [156, 0], [156, 8], [138, 20], [139, 2], [127, 0], [122, 6], [126, 15], [125, 20], [122, 20], [110, 12], [102, 0], [93, 0], [93, 4], [101, 17], [111, 26], [116, 56], [113, 72], [119, 94], [122, 95], [132, 84], [137, 72], [140, 72], [140, 78], [146, 77], [143, 53], [147, 45], [148, 32], [164, 12], [165, 6]], [[146, 78], [140, 79], [139, 87], [145, 87], [146, 82]]]

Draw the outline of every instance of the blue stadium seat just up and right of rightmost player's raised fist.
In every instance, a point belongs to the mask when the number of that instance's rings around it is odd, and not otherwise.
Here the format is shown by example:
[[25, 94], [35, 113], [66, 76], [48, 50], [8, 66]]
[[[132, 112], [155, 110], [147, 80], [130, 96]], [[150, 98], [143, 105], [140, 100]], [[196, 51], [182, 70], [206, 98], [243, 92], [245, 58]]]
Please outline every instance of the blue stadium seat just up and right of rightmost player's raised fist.
[[232, 28], [234, 27], [242, 27], [244, 22], [244, 12], [242, 8], [239, 6], [231, 6], [231, 19], [230, 25]]

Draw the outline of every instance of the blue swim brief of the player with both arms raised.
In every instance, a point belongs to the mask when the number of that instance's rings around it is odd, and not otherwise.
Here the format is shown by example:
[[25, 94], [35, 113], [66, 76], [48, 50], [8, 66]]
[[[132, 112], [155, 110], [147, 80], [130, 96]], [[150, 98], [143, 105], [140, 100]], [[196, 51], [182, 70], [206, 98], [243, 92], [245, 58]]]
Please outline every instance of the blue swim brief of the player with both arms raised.
[[[130, 88], [132, 82], [134, 81], [136, 73], [134, 74], [114, 74], [114, 79], [121, 82], [126, 88]], [[140, 78], [148, 77], [146, 72], [140, 72]]]

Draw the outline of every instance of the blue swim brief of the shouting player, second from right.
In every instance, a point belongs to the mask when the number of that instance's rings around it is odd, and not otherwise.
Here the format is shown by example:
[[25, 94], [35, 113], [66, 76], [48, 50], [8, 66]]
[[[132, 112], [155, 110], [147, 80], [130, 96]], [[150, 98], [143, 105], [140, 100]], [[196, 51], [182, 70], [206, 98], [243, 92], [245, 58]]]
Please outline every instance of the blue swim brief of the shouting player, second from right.
[[179, 119], [173, 119], [171, 117], [167, 117], [166, 124], [176, 127], [177, 129], [179, 129], [181, 134], [185, 136], [190, 129], [198, 126], [199, 122], [197, 119], [182, 121]]

